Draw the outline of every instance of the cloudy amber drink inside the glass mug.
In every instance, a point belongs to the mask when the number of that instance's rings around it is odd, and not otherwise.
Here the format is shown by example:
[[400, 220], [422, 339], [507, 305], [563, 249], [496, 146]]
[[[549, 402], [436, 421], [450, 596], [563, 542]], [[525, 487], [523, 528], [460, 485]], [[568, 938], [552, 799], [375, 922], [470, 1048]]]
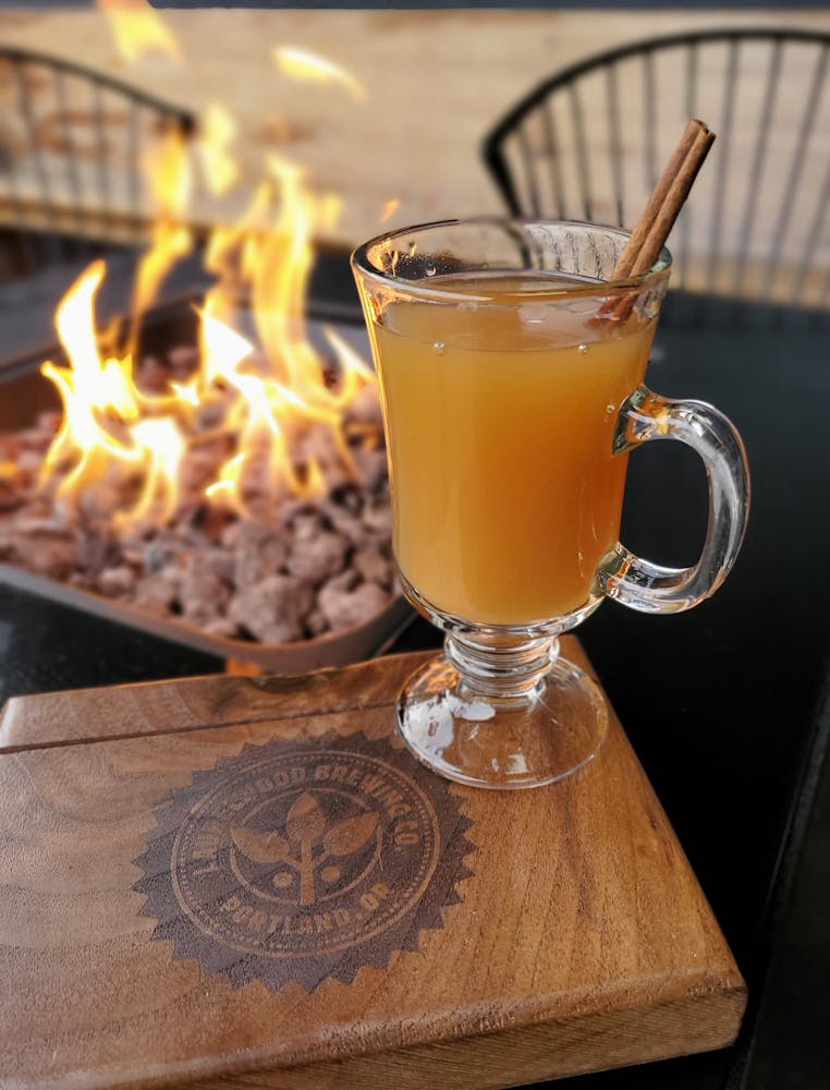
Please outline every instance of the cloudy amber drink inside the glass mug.
[[395, 552], [440, 611], [526, 625], [588, 604], [619, 537], [627, 456], [612, 439], [655, 320], [612, 332], [596, 300], [520, 302], [522, 277], [487, 287], [502, 306], [395, 301], [371, 329]]

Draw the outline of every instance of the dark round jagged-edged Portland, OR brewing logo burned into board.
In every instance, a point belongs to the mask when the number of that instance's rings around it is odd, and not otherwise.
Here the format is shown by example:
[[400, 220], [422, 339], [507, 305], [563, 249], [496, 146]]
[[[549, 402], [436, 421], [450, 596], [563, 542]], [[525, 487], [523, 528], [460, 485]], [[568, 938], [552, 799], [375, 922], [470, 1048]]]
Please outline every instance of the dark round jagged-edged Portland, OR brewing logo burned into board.
[[237, 986], [344, 983], [443, 927], [472, 872], [450, 785], [364, 736], [246, 746], [156, 810], [142, 913]]

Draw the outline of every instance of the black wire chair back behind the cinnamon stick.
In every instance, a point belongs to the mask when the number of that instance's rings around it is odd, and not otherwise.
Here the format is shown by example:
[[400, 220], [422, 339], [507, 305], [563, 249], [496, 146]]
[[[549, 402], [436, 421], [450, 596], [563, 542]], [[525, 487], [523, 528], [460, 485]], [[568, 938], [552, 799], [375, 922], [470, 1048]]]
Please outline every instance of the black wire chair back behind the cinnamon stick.
[[[631, 228], [689, 117], [717, 140], [669, 241], [675, 287], [830, 304], [830, 34], [694, 31], [553, 74], [485, 137], [514, 216]], [[661, 142], [661, 136], [667, 140]]]

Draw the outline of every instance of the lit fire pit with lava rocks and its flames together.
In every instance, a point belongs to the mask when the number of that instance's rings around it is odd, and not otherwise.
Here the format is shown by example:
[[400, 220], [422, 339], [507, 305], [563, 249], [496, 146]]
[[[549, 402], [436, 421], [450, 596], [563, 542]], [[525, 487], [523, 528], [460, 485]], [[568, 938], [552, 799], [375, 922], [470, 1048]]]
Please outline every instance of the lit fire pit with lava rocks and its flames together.
[[365, 336], [306, 315], [320, 203], [272, 165], [248, 216], [207, 241], [211, 288], [154, 310], [192, 244], [176, 141], [154, 167], [132, 314], [99, 328], [91, 263], [57, 308], [60, 346], [17, 380], [32, 411], [0, 437], [2, 574], [224, 658], [365, 657], [408, 610]]

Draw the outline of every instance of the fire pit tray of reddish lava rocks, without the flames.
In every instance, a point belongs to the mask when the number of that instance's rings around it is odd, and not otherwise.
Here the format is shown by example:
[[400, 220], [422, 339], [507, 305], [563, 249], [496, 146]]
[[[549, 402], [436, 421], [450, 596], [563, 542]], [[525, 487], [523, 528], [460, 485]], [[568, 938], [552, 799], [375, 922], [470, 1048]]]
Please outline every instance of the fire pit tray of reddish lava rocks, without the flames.
[[[195, 318], [184, 301], [147, 316], [139, 380], [158, 386], [192, 373]], [[322, 323], [309, 325], [319, 337]], [[342, 322], [326, 328], [341, 343], [363, 338]], [[167, 353], [164, 344], [172, 346]], [[386, 453], [371, 386], [343, 417], [356, 477], [312, 431], [306, 445], [316, 445], [325, 487], [284, 494], [272, 509], [267, 492], [252, 487], [260, 508], [251, 518], [205, 501], [205, 482], [220, 468], [228, 439], [204, 441], [183, 460], [187, 495], [163, 526], [113, 520], [123, 496], [111, 487], [84, 496], [73, 517], [60, 504], [56, 512], [59, 488], [41, 485], [62, 419], [56, 390], [30, 368], [4, 390], [0, 579], [225, 659], [282, 670], [366, 657], [410, 619], [390, 557]], [[15, 426], [22, 404], [29, 421]], [[121, 485], [134, 492], [136, 481]]]

